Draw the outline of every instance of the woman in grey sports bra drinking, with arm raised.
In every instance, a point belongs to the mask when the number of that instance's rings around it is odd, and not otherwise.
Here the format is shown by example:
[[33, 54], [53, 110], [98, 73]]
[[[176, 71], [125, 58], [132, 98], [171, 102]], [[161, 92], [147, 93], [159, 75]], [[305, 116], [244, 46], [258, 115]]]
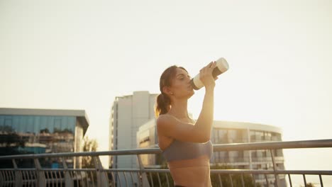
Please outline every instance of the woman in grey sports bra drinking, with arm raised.
[[161, 94], [157, 96], [155, 108], [157, 135], [175, 186], [211, 186], [214, 67], [216, 62], [211, 62], [199, 73], [205, 96], [196, 122], [189, 118], [187, 111], [187, 101], [194, 94], [187, 70], [172, 66], [160, 77]]

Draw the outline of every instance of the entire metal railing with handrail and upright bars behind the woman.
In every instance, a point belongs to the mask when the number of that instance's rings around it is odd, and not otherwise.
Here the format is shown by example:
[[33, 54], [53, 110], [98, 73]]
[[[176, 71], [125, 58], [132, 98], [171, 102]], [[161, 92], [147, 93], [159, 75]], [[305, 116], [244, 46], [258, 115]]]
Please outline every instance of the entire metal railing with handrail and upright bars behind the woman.
[[[303, 149], [332, 147], [332, 140], [306, 140], [292, 142], [255, 142], [227, 145], [214, 145], [214, 152], [250, 151], [267, 149], [273, 169], [211, 169], [211, 179], [214, 186], [293, 186], [292, 176], [303, 176], [303, 184], [307, 186], [306, 176], [319, 177], [320, 186], [323, 186], [322, 176], [331, 176], [332, 171], [322, 170], [284, 170], [278, 169], [276, 157], [277, 149]], [[173, 186], [169, 169], [147, 169], [140, 159], [141, 154], [160, 154], [158, 148], [150, 149], [123, 149], [108, 152], [76, 152], [52, 154], [22, 154], [0, 157], [1, 160], [11, 160], [13, 168], [0, 169], [0, 187], [2, 186]], [[104, 169], [101, 165], [101, 156], [136, 155], [138, 169]], [[68, 168], [65, 158], [92, 157], [94, 168]], [[40, 165], [41, 159], [57, 158], [62, 160], [62, 168], [50, 169]], [[18, 167], [17, 161], [32, 159], [34, 167]], [[286, 158], [287, 160], [287, 158]], [[328, 161], [326, 161], [328, 162]]]

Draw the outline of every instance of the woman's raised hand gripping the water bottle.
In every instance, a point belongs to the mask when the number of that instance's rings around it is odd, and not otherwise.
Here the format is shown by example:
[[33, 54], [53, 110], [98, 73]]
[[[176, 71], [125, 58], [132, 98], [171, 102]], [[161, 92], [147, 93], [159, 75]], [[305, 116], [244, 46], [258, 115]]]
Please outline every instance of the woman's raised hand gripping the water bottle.
[[210, 62], [206, 67], [203, 67], [199, 71], [199, 79], [204, 84], [206, 89], [214, 88], [216, 86], [215, 80], [218, 79], [218, 77], [212, 76], [212, 71], [216, 67], [216, 61]]

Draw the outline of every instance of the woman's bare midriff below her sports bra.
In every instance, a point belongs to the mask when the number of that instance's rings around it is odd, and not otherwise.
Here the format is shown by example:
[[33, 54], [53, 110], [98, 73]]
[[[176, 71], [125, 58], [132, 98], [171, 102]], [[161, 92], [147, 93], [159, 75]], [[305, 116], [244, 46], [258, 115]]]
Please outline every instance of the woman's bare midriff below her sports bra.
[[167, 164], [175, 185], [211, 186], [210, 159], [206, 155], [196, 159], [171, 161]]

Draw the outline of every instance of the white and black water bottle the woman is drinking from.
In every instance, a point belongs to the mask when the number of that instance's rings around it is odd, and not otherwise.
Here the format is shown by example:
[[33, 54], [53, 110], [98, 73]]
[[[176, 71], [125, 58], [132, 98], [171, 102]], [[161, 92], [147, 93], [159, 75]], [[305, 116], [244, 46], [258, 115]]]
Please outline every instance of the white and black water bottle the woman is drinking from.
[[[216, 61], [216, 67], [212, 71], [212, 76], [217, 77], [219, 74], [222, 74], [227, 70], [228, 70], [228, 63], [223, 57], [221, 57]], [[199, 74], [197, 74], [194, 78], [192, 78], [190, 84], [192, 84], [192, 88], [195, 90], [199, 90], [204, 86], [204, 84], [201, 82], [201, 79], [199, 79]]]

